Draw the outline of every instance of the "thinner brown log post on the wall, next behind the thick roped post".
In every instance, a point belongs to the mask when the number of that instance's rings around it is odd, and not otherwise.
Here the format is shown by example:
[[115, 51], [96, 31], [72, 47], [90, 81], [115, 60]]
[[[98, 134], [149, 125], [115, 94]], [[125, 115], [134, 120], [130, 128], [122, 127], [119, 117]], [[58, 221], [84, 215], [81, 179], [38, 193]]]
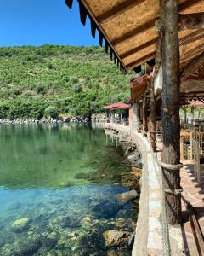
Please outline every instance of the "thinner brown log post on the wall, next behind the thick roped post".
[[156, 152], [156, 107], [155, 107], [155, 95], [154, 95], [154, 82], [150, 84], [150, 143], [154, 152]]

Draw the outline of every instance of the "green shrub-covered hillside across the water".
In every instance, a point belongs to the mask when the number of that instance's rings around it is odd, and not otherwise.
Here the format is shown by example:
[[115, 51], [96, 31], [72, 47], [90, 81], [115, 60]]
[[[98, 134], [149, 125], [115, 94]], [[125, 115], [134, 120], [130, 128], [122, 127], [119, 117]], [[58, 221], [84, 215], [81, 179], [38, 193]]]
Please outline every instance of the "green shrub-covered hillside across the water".
[[99, 113], [127, 102], [131, 77], [99, 47], [0, 48], [0, 119]]

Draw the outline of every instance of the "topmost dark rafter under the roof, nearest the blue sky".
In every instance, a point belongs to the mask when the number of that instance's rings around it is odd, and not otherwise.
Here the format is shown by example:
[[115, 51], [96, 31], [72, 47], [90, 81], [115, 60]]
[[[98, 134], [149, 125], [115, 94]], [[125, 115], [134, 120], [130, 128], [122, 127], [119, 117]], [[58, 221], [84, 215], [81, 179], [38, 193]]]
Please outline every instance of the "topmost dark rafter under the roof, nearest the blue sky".
[[106, 22], [115, 18], [118, 15], [126, 12], [128, 9], [133, 8], [134, 6], [138, 5], [139, 3], [143, 3], [144, 0], [127, 0], [126, 2], [122, 2], [113, 6], [111, 9], [107, 10], [104, 14], [99, 15], [96, 19], [99, 22]]

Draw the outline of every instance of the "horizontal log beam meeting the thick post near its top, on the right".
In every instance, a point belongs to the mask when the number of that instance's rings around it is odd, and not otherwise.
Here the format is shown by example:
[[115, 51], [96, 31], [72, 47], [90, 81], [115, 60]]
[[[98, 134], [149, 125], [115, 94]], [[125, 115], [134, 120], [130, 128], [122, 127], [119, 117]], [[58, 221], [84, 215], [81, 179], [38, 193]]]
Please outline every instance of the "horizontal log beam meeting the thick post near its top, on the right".
[[204, 13], [187, 14], [178, 16], [178, 29], [204, 28]]

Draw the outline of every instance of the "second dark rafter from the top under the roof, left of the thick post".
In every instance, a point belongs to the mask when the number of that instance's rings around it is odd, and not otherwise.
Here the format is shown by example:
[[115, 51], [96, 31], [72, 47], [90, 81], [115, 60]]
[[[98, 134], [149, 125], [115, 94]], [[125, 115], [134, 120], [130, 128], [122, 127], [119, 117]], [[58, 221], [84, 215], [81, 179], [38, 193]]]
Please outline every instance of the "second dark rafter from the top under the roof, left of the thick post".
[[122, 42], [125, 42], [128, 39], [133, 38], [135, 36], [138, 36], [140, 33], [145, 32], [145, 31], [149, 30], [150, 28], [152, 28], [154, 26], [155, 26], [155, 19], [150, 20], [149, 22], [147, 22], [147, 23], [145, 23], [145, 24], [143, 24], [139, 27], [134, 28], [130, 32], [124, 33], [124, 34], [122, 34], [122, 36], [120, 36], [118, 38], [115, 38], [112, 41], [112, 44], [116, 45], [116, 44], [120, 44]]

